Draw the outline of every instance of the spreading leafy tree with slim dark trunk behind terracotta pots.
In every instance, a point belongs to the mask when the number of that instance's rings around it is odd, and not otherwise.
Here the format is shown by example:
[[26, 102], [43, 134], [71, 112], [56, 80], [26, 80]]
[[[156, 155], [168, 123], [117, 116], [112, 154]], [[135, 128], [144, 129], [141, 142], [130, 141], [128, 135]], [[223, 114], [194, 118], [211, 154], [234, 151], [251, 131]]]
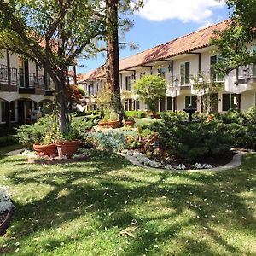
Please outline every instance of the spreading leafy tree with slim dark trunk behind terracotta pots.
[[0, 0], [0, 49], [37, 62], [55, 84], [60, 128], [70, 128], [67, 102], [68, 67], [83, 53], [96, 49], [104, 34], [100, 1]]

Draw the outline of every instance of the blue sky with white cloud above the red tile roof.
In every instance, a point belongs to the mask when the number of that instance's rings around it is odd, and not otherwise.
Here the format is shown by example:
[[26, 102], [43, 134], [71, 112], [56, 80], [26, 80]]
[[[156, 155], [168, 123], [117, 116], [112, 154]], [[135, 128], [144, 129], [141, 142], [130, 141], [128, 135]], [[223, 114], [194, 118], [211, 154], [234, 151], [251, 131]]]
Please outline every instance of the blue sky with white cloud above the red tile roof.
[[[130, 16], [134, 27], [121, 42], [133, 42], [137, 49], [120, 49], [120, 59], [135, 55], [158, 44], [226, 20], [229, 10], [216, 0], [146, 0], [143, 9]], [[103, 65], [106, 56], [79, 60], [78, 73], [88, 73]]]

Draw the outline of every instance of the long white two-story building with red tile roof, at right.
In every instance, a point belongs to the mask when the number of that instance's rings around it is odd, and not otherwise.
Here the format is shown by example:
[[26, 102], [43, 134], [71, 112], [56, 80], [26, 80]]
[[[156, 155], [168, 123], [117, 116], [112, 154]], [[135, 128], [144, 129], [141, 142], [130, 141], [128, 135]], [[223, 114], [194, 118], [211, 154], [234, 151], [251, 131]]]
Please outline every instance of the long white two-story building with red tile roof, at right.
[[[192, 104], [201, 112], [201, 92], [193, 88], [193, 78], [199, 73], [209, 81], [224, 84], [223, 89], [213, 95], [216, 98], [214, 112], [226, 112], [230, 108], [246, 110], [255, 106], [256, 65], [241, 67], [225, 77], [213, 69], [220, 56], [210, 44], [211, 38], [214, 31], [224, 30], [228, 24], [229, 21], [223, 21], [120, 60], [120, 88], [125, 110], [147, 109], [133, 91], [133, 84], [144, 74], [160, 74], [166, 79], [166, 97], [160, 98], [159, 111], [183, 110]], [[253, 50], [253, 46], [249, 47]], [[104, 77], [102, 67], [84, 74], [82, 84], [88, 102], [104, 86]]]

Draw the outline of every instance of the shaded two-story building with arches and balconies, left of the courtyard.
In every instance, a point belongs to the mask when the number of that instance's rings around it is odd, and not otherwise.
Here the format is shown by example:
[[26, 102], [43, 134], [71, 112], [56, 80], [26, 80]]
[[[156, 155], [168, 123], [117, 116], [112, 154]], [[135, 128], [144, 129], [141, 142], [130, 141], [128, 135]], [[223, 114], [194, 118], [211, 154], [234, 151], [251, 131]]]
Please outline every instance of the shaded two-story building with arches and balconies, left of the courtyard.
[[0, 127], [31, 123], [35, 112], [50, 111], [53, 100], [53, 85], [44, 68], [20, 55], [0, 51]]

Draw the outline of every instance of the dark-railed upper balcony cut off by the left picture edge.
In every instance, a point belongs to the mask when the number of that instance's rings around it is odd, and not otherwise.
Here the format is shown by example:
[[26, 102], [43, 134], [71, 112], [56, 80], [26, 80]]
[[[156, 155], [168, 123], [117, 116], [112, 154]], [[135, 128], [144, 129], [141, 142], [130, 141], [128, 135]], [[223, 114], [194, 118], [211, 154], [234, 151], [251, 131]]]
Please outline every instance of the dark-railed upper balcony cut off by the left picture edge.
[[17, 68], [0, 64], [0, 90], [17, 91]]

